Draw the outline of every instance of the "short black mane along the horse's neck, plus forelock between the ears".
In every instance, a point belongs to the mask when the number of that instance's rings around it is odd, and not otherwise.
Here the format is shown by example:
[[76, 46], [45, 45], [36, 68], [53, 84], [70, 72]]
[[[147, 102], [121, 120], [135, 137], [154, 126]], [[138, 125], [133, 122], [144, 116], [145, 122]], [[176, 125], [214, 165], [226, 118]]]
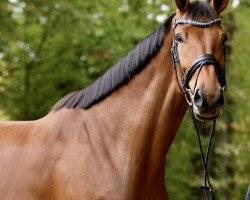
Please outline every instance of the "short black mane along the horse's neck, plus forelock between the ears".
[[[164, 37], [169, 31], [174, 16], [175, 14], [172, 14], [163, 26], [137, 44], [93, 84], [62, 98], [53, 107], [52, 111], [64, 107], [87, 109], [138, 74], [161, 49]], [[191, 3], [187, 10], [187, 17], [192, 20], [210, 20], [218, 16], [209, 4], [197, 1]]]

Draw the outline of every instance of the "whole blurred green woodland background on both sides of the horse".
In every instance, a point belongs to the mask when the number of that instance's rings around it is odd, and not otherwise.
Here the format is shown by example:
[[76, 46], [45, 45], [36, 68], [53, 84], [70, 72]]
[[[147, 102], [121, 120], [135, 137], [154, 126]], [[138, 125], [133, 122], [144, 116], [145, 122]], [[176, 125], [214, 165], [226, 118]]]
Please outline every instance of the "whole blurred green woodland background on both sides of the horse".
[[[173, 0], [1, 0], [0, 119], [30, 120], [82, 89], [175, 11]], [[228, 32], [226, 104], [210, 157], [220, 200], [243, 200], [250, 181], [250, 2], [222, 14]], [[203, 136], [206, 140], [207, 136]], [[201, 200], [202, 168], [187, 114], [166, 162], [171, 199]]]

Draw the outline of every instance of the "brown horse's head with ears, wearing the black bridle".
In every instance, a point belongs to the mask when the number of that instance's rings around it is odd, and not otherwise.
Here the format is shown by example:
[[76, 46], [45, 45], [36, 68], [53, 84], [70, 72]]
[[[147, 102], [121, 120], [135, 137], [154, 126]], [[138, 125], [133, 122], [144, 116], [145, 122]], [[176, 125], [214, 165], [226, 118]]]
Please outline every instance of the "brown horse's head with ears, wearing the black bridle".
[[[172, 57], [180, 87], [195, 117], [214, 120], [224, 104], [225, 42], [227, 35], [220, 25], [220, 13], [228, 0], [206, 2], [175, 0]], [[195, 12], [195, 10], [200, 10]], [[204, 12], [201, 12], [204, 10]]]

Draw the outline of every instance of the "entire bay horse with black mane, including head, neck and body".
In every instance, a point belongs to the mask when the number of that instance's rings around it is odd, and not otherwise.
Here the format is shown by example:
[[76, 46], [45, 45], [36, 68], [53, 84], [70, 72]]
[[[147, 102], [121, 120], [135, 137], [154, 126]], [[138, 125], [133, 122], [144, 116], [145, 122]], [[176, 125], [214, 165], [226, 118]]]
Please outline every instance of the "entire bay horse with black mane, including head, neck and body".
[[220, 112], [228, 0], [177, 11], [92, 85], [35, 121], [0, 123], [1, 200], [167, 200], [165, 158], [192, 105]]

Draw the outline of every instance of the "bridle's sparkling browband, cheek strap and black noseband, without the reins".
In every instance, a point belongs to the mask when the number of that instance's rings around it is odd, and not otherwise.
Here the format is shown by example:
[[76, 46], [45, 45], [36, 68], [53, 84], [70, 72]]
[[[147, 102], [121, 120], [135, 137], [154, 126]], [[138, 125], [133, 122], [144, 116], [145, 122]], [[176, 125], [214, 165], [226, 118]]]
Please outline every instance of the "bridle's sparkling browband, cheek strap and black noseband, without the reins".
[[[208, 22], [199, 22], [199, 21], [194, 21], [194, 20], [190, 20], [190, 19], [175, 19], [173, 31], [174, 31], [174, 35], [175, 35], [176, 27], [178, 25], [183, 25], [183, 24], [190, 24], [190, 25], [198, 26], [198, 27], [209, 27], [213, 24], [220, 24], [220, 23], [221, 23], [221, 19], [219, 19], [219, 18], [208, 21]], [[180, 63], [180, 59], [179, 59], [179, 55], [178, 55], [178, 41], [176, 40], [175, 37], [173, 39], [173, 46], [171, 48], [171, 54], [172, 54], [173, 67], [174, 67], [175, 71], [177, 71], [177, 68], [176, 68], [176, 66], [177, 66], [178, 70], [182, 74], [181, 81], [178, 81], [178, 83], [179, 83], [182, 91], [185, 93], [185, 95], [190, 94], [189, 81], [190, 81], [191, 77], [193, 76], [193, 74], [196, 72], [196, 70], [198, 70], [198, 69], [201, 70], [201, 68], [203, 66], [205, 66], [206, 64], [211, 64], [214, 66], [218, 81], [219, 81], [222, 89], [225, 90], [225, 88], [226, 88], [225, 72], [224, 72], [224, 70], [222, 70], [220, 64], [218, 63], [218, 61], [216, 60], [216, 58], [213, 54], [204, 54], [204, 55], [201, 55], [200, 57], [198, 57], [194, 61], [194, 63], [190, 66], [187, 73], [185, 73], [185, 71]], [[177, 75], [177, 72], [176, 72], [176, 75]], [[178, 79], [178, 76], [176, 76], [176, 77]], [[191, 102], [188, 99], [189, 98], [187, 98], [187, 101], [188, 101], [188, 104], [190, 105]]]

